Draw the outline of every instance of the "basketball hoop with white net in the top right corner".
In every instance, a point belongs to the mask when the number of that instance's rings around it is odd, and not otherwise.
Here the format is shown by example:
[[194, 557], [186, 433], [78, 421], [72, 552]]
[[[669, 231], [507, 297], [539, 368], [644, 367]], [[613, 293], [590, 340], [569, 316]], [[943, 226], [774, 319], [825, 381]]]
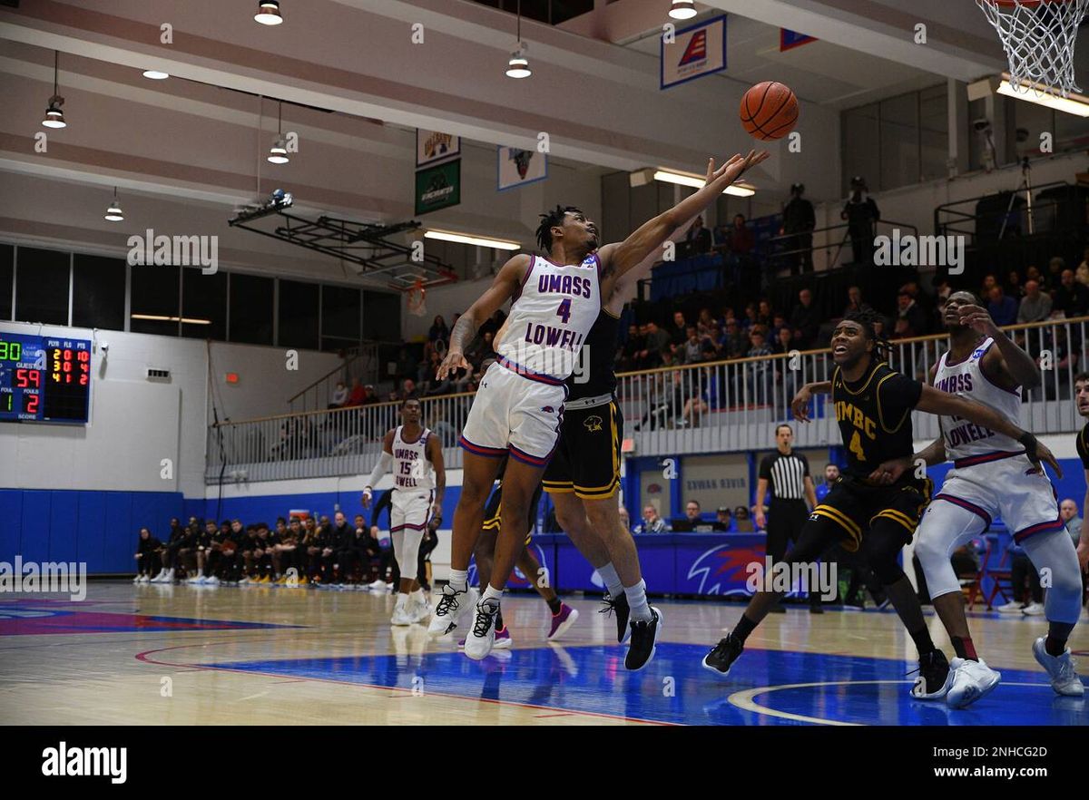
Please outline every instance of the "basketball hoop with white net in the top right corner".
[[976, 0], [1010, 57], [1014, 91], [1066, 97], [1080, 91], [1074, 46], [1089, 0]]

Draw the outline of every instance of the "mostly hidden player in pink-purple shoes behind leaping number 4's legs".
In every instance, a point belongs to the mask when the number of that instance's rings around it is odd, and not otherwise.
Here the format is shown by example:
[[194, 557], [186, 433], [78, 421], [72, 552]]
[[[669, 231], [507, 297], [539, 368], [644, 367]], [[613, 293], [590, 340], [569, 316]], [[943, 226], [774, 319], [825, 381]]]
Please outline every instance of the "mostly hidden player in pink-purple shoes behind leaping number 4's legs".
[[[504, 463], [500, 467], [499, 475], [497, 476], [499, 485], [495, 487], [495, 490], [491, 493], [491, 497], [488, 499], [488, 505], [484, 513], [484, 528], [480, 531], [480, 538], [477, 540], [476, 549], [473, 552], [473, 555], [476, 557], [477, 577], [481, 587], [487, 587], [491, 580], [491, 566], [495, 555], [495, 542], [499, 540], [499, 531], [502, 527], [503, 472], [506, 469], [506, 464]], [[540, 562], [537, 561], [537, 556], [529, 550], [529, 544], [533, 541], [534, 517], [537, 516], [540, 500], [541, 484], [538, 483], [537, 491], [534, 492], [533, 500], [529, 502], [526, 546], [518, 556], [517, 566], [522, 570], [522, 574], [526, 576], [526, 580], [533, 583], [537, 593], [548, 603], [549, 611], [552, 613], [552, 619], [546, 638], [548, 641], [558, 641], [578, 619], [578, 612], [560, 600], [555, 590], [549, 586], [549, 581], [544, 580], [544, 570]], [[462, 640], [458, 644], [464, 647], [465, 640]], [[503, 623], [502, 611], [495, 614], [495, 640], [492, 647], [511, 647], [511, 632]]]

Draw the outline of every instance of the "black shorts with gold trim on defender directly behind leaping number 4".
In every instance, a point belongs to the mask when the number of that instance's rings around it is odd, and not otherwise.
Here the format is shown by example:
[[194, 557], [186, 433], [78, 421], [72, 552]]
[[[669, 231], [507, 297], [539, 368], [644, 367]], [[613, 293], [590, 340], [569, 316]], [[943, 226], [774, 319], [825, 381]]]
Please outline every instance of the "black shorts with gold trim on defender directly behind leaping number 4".
[[574, 492], [583, 500], [608, 500], [620, 488], [624, 416], [616, 401], [565, 409], [555, 454], [541, 483], [550, 494]]

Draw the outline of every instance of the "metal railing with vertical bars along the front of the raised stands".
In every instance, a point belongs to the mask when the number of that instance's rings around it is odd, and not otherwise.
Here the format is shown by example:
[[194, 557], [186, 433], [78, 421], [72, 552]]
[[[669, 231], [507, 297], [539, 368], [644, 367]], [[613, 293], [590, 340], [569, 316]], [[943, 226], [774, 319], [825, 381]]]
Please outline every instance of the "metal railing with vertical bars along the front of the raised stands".
[[[1080, 419], [1073, 402], [1074, 376], [1086, 368], [1089, 317], [1004, 329], [1041, 359], [1042, 385], [1024, 393], [1020, 424], [1035, 433], [1075, 431]], [[949, 348], [944, 335], [892, 343], [890, 364], [927, 381]], [[790, 419], [797, 389], [828, 380], [829, 349], [792, 352], [713, 364], [665, 367], [617, 377], [624, 436], [635, 455], [686, 455], [766, 450], [769, 426]], [[425, 397], [424, 423], [441, 438], [445, 465], [458, 468], [457, 436], [472, 393]], [[827, 395], [812, 401], [811, 424], [795, 426], [799, 447], [839, 445], [840, 433]], [[366, 475], [381, 451], [382, 436], [397, 424], [396, 403], [224, 422], [208, 429], [206, 480], [261, 481]], [[938, 418], [914, 413], [916, 439], [939, 434]]]

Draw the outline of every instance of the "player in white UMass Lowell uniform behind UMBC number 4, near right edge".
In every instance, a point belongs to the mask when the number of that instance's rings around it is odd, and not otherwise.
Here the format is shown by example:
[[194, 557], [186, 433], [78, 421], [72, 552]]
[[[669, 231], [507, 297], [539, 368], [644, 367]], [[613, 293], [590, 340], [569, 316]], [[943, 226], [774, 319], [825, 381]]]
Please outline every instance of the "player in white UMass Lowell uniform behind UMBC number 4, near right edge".
[[[945, 304], [950, 349], [934, 367], [934, 387], [982, 403], [1016, 423], [1021, 386], [1040, 384], [1032, 357], [1000, 331], [969, 292], [954, 292]], [[927, 578], [934, 611], [956, 650], [950, 677], [941, 690], [915, 697], [963, 709], [984, 697], [1001, 680], [976, 653], [968, 630], [960, 584], [950, 561], [953, 551], [982, 536], [1000, 517], [1025, 547], [1038, 570], [1049, 570], [1047, 638], [1032, 647], [1036, 660], [1051, 676], [1059, 694], [1084, 692], [1066, 647], [1081, 613], [1078, 557], [1059, 516], [1055, 490], [1043, 467], [1035, 467], [1025, 448], [1008, 436], [959, 417], [941, 417], [940, 435], [915, 460], [928, 466], [953, 459], [941, 491], [919, 524], [915, 554]], [[886, 463], [874, 478], [898, 475], [910, 463]], [[898, 471], [897, 471], [898, 470]], [[1059, 475], [1062, 478], [1062, 472]]]

